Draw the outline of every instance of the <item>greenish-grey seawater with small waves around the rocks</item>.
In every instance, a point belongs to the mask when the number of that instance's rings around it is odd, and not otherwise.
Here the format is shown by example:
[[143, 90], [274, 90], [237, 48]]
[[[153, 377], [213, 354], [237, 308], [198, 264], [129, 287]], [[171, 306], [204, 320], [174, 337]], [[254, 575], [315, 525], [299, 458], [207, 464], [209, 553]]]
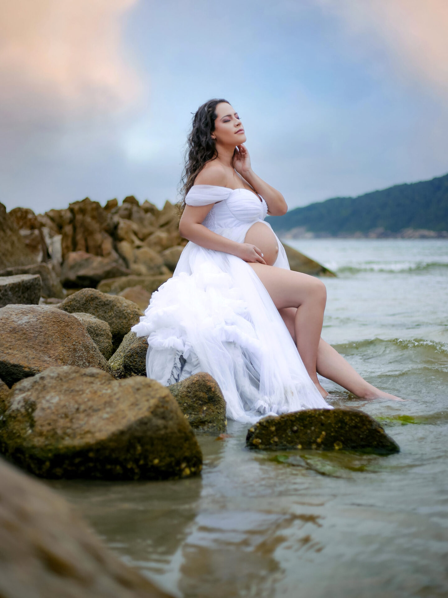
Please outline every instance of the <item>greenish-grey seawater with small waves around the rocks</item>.
[[323, 279], [323, 337], [406, 402], [333, 405], [372, 414], [392, 456], [246, 450], [247, 426], [200, 437], [202, 476], [51, 483], [125, 562], [183, 597], [448, 595], [448, 242], [289, 242]]

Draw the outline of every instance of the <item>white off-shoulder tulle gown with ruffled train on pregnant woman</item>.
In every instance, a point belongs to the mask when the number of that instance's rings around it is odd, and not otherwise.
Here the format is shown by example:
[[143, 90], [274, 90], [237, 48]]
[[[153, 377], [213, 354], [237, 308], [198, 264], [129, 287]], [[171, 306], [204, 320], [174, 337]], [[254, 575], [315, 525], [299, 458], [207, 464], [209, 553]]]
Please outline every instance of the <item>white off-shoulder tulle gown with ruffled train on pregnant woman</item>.
[[[194, 185], [185, 202], [214, 203], [202, 224], [237, 242], [268, 212], [265, 200], [251, 191], [215, 185]], [[289, 270], [277, 242], [274, 266]], [[268, 414], [329, 407], [259, 277], [235, 255], [187, 243], [173, 277], [152, 294], [132, 330], [148, 338], [149, 378], [168, 386], [208, 372], [230, 419], [253, 423]]]

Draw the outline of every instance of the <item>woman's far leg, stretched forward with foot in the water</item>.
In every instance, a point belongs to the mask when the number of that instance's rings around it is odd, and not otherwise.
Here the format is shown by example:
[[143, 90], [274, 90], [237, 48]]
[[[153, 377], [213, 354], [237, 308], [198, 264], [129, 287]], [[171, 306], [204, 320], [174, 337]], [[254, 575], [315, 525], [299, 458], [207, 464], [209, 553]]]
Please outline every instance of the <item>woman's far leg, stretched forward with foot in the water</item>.
[[[289, 329], [291, 336], [296, 342], [296, 329], [294, 328], [295, 321], [295, 308], [289, 307], [279, 310], [281, 317], [283, 318], [286, 327]], [[403, 399], [398, 398], [394, 395], [389, 395], [387, 392], [379, 390], [375, 386], [366, 382], [360, 374], [357, 373], [351, 365], [345, 361], [342, 355], [333, 349], [333, 347], [326, 343], [323, 338], [320, 339], [317, 359], [316, 359], [317, 372], [333, 380], [336, 384], [339, 384], [343, 388], [349, 390], [356, 396], [360, 396], [363, 399], [393, 399], [395, 401], [402, 401]]]

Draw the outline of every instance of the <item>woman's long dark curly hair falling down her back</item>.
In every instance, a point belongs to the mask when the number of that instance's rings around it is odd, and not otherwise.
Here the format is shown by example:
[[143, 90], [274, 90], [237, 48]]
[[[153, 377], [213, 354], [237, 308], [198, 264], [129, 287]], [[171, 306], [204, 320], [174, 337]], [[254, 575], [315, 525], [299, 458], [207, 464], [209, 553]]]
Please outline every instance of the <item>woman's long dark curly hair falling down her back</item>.
[[209, 160], [217, 158], [218, 152], [211, 139], [216, 120], [216, 106], [222, 102], [230, 103], [223, 98], [213, 98], [199, 106], [192, 118], [191, 132], [188, 135], [185, 149], [185, 167], [180, 179], [180, 209], [185, 207], [185, 196], [192, 188], [195, 178], [201, 172], [202, 166]]

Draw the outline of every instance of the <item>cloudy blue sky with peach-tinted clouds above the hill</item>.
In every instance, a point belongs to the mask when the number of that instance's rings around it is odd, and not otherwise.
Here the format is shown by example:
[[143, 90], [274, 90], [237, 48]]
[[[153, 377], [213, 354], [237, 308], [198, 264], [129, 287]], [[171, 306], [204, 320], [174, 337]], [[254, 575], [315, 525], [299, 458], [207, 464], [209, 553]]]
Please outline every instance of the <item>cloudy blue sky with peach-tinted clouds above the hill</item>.
[[0, 202], [176, 200], [225, 97], [290, 208], [448, 172], [446, 0], [0, 0]]

